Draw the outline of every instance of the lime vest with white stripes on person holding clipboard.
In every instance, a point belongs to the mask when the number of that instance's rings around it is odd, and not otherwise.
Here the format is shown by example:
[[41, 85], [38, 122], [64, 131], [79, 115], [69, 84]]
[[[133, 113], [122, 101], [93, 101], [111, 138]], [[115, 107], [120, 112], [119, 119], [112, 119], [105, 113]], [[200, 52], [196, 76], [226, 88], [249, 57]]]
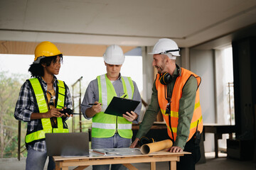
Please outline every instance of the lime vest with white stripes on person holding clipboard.
[[[125, 118], [105, 114], [104, 111], [114, 96], [117, 96], [114, 86], [107, 74], [97, 77], [99, 89], [99, 102], [102, 103], [102, 111], [92, 118], [92, 137], [112, 137], [116, 130], [124, 138], [132, 138], [132, 122]], [[132, 99], [134, 84], [130, 77], [122, 77], [122, 84], [125, 98]]]

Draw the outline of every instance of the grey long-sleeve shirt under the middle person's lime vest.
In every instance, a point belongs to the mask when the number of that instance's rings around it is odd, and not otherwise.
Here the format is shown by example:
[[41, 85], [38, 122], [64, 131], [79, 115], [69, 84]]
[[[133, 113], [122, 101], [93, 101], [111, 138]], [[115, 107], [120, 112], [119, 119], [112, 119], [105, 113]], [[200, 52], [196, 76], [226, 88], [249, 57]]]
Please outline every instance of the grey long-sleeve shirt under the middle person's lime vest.
[[[132, 100], [142, 101], [137, 84], [135, 83], [135, 81], [132, 81], [132, 82], [134, 84], [134, 94], [133, 94]], [[121, 74], [117, 80], [112, 82], [112, 84], [114, 86], [114, 91], [116, 92], [117, 96], [118, 97], [122, 96], [124, 94], [124, 89], [123, 89]], [[90, 84], [87, 86], [87, 89], [85, 91], [85, 96], [81, 104], [82, 114], [88, 120], [90, 120], [90, 118], [87, 118], [87, 116], [85, 115], [85, 111], [87, 108], [92, 107], [92, 106], [89, 106], [89, 103], [95, 103], [95, 101], [99, 101], [99, 88], [97, 84], [97, 79], [90, 81]], [[137, 113], [137, 115], [139, 115], [141, 109], [142, 109], [142, 102], [139, 103], [139, 106], [137, 106], [134, 112]], [[138, 119], [134, 120], [133, 123], [138, 123]]]

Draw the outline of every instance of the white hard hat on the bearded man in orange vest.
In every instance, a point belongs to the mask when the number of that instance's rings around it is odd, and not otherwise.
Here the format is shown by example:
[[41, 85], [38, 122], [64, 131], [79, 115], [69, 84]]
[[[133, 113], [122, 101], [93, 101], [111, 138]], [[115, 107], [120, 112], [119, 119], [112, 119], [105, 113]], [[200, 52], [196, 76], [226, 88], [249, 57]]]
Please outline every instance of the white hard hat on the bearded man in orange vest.
[[156, 42], [152, 52], [149, 52], [149, 55], [166, 55], [171, 53], [171, 55], [174, 57], [180, 56], [179, 51], [180, 49], [178, 48], [178, 45], [174, 40], [171, 40], [169, 38], [162, 38], [158, 42]]

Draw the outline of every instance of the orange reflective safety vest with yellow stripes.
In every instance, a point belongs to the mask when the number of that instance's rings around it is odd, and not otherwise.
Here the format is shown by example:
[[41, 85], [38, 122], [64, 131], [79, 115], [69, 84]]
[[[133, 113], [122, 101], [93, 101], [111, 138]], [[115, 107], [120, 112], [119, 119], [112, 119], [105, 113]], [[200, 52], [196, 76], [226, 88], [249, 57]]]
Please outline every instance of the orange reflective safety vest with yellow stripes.
[[[196, 80], [198, 81], [198, 87], [199, 87], [201, 83], [201, 77], [198, 77], [198, 75], [183, 68], [181, 68], [181, 76], [177, 77], [176, 82], [174, 84], [174, 89], [171, 96], [171, 113], [170, 113], [171, 127], [169, 124], [169, 114], [166, 113], [166, 106], [168, 101], [165, 98], [165, 86], [160, 83], [159, 74], [157, 74], [157, 77], [156, 77], [156, 90], [158, 94], [159, 107], [161, 109], [161, 113], [164, 117], [164, 120], [166, 121], [168, 135], [174, 141], [176, 140], [176, 136], [177, 136], [178, 108], [179, 108], [179, 101], [182, 97], [182, 89], [183, 89], [183, 86], [186, 84], [186, 81], [188, 81], [189, 77], [191, 76], [196, 77]], [[190, 140], [191, 137], [193, 137], [194, 133], [196, 132], [196, 128], [200, 132], [203, 131], [203, 118], [202, 118], [200, 99], [199, 99], [199, 89], [197, 89], [196, 91], [195, 108], [194, 108], [193, 117], [191, 120], [188, 140]], [[172, 133], [174, 134], [174, 136], [172, 136]]]

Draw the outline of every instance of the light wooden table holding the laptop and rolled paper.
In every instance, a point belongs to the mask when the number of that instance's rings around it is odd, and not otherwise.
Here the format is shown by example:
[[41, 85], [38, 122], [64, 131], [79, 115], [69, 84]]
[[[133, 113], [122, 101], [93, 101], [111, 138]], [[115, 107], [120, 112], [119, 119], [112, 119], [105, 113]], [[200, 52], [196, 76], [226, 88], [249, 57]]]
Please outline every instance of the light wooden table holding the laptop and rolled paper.
[[68, 170], [68, 166], [78, 166], [75, 169], [85, 169], [90, 165], [100, 164], [123, 164], [127, 169], [135, 170], [132, 163], [150, 162], [151, 170], [156, 169], [156, 162], [171, 162], [170, 169], [176, 169], [176, 162], [179, 158], [189, 152], [171, 153], [166, 151], [154, 152], [151, 154], [137, 154], [127, 156], [100, 156], [100, 157], [53, 157], [55, 160], [55, 169]]

